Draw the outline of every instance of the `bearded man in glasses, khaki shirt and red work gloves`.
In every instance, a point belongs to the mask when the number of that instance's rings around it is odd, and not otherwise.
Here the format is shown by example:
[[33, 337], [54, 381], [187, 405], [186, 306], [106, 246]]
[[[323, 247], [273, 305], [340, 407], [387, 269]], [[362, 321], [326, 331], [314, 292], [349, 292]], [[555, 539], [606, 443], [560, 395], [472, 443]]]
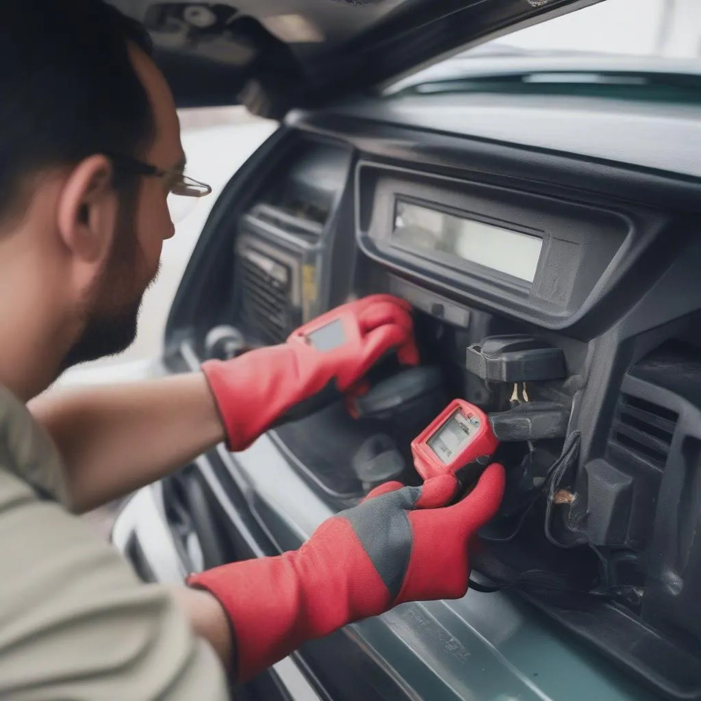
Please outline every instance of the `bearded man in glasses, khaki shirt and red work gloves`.
[[411, 317], [370, 297], [346, 308], [359, 338], [328, 353], [290, 341], [191, 375], [43, 393], [129, 345], [174, 233], [167, 198], [206, 187], [183, 175], [172, 95], [138, 25], [101, 0], [3, 11], [0, 698], [224, 699], [224, 670], [245, 681], [348, 622], [462, 596], [468, 541], [503, 494], [499, 465], [449, 506], [454, 477], [383, 485], [297, 551], [172, 590], [140, 583], [87, 531], [76, 514], [218, 442], [245, 448], [388, 351], [416, 362]]

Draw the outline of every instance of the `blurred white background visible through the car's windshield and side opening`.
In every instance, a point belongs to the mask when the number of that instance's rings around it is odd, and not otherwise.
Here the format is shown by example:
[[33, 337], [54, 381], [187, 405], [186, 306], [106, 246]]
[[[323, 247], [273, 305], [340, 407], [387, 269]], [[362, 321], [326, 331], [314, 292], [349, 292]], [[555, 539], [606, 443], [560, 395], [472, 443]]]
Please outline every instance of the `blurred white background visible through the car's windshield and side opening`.
[[[484, 56], [486, 52], [514, 60], [519, 55], [544, 51], [555, 58], [584, 51], [608, 55], [611, 60], [637, 57], [698, 61], [701, 0], [604, 0], [503, 36], [462, 54], [459, 59]], [[198, 203], [196, 210], [178, 224], [175, 237], [165, 242], [161, 275], [144, 297], [137, 341], [117, 358], [88, 365], [140, 360], [158, 354], [172, 298], [210, 208], [231, 175], [278, 126], [254, 118], [239, 107], [182, 111], [180, 118], [188, 173], [211, 184], [212, 196]]]

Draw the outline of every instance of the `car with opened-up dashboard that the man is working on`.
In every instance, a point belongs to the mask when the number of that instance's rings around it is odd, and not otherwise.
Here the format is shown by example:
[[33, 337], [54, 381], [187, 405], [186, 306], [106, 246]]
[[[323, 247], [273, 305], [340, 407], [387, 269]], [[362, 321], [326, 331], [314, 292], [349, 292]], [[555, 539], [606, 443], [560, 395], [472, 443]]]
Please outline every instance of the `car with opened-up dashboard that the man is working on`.
[[212, 207], [161, 355], [111, 376], [196, 371], [378, 292], [411, 303], [421, 351], [355, 416], [137, 491], [111, 540], [139, 576], [278, 554], [416, 484], [411, 441], [451, 400], [508, 472], [467, 596], [309, 641], [237, 697], [701, 699], [699, 60], [488, 48], [592, 0], [114, 4], [180, 106], [280, 127]]

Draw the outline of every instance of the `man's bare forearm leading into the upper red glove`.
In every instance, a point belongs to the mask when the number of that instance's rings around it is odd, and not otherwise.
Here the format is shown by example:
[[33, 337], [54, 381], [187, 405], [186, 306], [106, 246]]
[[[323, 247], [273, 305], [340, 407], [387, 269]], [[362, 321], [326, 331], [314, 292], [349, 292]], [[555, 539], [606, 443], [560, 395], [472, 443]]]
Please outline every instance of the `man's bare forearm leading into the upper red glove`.
[[29, 409], [64, 459], [78, 512], [150, 484], [224, 440], [201, 373], [49, 392]]

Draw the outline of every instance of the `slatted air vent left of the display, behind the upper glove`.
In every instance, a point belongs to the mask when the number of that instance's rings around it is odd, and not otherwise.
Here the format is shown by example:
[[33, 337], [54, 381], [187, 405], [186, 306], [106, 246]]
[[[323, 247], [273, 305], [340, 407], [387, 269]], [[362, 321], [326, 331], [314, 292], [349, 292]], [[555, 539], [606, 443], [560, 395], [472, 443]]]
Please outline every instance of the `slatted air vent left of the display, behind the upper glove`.
[[239, 256], [241, 313], [261, 340], [282, 343], [290, 334], [290, 268], [255, 250]]

